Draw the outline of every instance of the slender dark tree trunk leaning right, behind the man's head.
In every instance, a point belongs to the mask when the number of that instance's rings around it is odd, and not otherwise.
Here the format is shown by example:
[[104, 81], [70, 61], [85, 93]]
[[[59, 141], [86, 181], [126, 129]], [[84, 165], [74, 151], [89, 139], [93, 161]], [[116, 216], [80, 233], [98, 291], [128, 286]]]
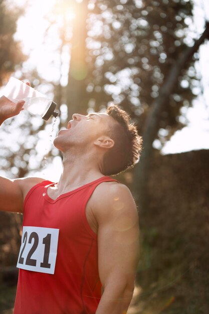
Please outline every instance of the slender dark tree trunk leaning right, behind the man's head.
[[170, 72], [159, 90], [159, 96], [153, 101], [150, 112], [147, 116], [144, 130], [143, 130], [143, 151], [140, 158], [139, 165], [136, 166], [134, 173], [134, 194], [136, 202], [141, 208], [147, 207], [147, 181], [149, 176], [149, 169], [152, 161], [153, 147], [152, 143], [157, 137], [160, 123], [160, 115], [164, 110], [169, 95], [173, 92], [177, 83], [178, 77], [185, 69], [187, 62], [198, 50], [199, 46], [205, 39], [209, 39], [209, 23], [205, 25], [205, 31], [200, 38], [195, 41], [192, 47], [188, 47], [181, 53], [178, 60], [172, 65]]

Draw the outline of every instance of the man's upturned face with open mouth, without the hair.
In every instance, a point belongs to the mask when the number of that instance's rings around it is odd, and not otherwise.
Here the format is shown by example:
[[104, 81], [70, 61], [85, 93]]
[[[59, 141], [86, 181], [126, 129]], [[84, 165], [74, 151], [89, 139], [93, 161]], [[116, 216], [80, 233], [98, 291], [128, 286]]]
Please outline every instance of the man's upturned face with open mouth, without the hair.
[[67, 129], [59, 131], [54, 144], [61, 151], [70, 146], [89, 147], [99, 136], [108, 136], [112, 123], [115, 121], [107, 113], [94, 112], [88, 115], [75, 113], [73, 119], [68, 122]]

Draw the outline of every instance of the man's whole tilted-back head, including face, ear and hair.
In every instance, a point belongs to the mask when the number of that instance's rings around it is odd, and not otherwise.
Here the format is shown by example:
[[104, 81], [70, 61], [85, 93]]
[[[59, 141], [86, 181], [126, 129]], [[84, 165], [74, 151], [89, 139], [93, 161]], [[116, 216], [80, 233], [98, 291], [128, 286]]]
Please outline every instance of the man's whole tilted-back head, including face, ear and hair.
[[141, 143], [136, 126], [117, 105], [108, 107], [106, 113], [74, 114], [68, 129], [61, 130], [54, 141], [64, 153], [71, 151], [97, 162], [103, 175], [116, 175], [133, 167]]

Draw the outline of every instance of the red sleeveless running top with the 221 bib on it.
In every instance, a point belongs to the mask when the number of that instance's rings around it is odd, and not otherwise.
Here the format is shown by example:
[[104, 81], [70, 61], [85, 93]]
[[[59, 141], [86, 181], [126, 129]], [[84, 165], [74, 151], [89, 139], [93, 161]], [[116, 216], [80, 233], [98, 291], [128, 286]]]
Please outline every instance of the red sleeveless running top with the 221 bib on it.
[[[24, 203], [14, 314], [93, 314], [101, 298], [97, 235], [85, 208], [102, 177], [56, 200], [54, 183], [34, 186]], [[54, 272], [54, 273], [53, 273]]]

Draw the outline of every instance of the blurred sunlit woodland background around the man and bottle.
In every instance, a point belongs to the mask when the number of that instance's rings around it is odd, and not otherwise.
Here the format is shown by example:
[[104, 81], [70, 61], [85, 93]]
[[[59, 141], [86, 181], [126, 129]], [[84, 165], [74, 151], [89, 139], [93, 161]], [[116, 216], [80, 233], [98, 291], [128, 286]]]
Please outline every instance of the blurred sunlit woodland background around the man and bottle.
[[[208, 0], [0, 0], [0, 94], [29, 80], [58, 104], [0, 132], [0, 175], [58, 181], [72, 114], [126, 110], [143, 151], [118, 176], [134, 195], [140, 261], [128, 314], [209, 313]], [[53, 125], [54, 124], [54, 125]], [[0, 213], [0, 313], [13, 312], [22, 215]]]

